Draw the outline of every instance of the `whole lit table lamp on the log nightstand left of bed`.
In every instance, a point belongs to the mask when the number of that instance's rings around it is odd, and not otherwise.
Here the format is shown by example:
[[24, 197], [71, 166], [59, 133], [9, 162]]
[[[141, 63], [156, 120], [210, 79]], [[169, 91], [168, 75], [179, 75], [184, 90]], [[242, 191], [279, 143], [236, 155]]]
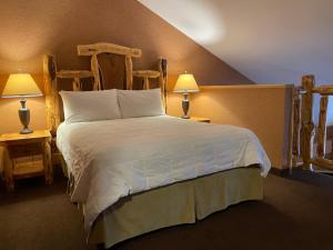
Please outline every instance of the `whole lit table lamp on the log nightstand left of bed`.
[[33, 130], [29, 129], [30, 110], [26, 107], [26, 98], [41, 97], [42, 92], [36, 84], [30, 73], [12, 73], [9, 76], [1, 98], [21, 98], [21, 108], [19, 109], [19, 117], [23, 129], [20, 133], [32, 133]]

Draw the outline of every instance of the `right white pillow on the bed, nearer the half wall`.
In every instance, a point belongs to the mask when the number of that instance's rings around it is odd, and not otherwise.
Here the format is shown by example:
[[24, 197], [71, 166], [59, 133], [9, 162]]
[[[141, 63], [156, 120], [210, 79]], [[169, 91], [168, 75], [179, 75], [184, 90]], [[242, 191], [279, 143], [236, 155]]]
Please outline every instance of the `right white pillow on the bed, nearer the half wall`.
[[161, 89], [117, 90], [122, 118], [157, 117], [165, 114]]

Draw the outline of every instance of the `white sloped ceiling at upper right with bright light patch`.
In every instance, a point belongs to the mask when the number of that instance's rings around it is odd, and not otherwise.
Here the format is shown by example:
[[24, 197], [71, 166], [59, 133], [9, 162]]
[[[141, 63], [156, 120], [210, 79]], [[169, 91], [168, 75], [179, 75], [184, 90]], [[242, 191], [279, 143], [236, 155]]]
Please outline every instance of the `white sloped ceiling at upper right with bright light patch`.
[[333, 0], [139, 0], [256, 83], [333, 83]]

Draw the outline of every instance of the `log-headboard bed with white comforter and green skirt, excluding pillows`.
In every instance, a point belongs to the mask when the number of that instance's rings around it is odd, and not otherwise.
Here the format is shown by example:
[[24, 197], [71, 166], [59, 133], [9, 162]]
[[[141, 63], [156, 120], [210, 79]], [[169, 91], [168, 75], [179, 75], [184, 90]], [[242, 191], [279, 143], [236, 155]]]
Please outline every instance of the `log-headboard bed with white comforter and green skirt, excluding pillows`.
[[109, 248], [157, 229], [193, 223], [231, 204], [263, 198], [263, 177], [271, 164], [248, 129], [164, 113], [61, 122], [58, 78], [70, 76], [77, 90], [82, 90], [81, 77], [92, 77], [94, 90], [114, 88], [103, 87], [114, 73], [105, 77], [102, 64], [94, 70], [94, 63], [104, 60], [99, 61], [98, 54], [105, 50], [108, 56], [124, 56], [120, 60], [124, 63], [120, 68], [123, 74], [117, 81], [123, 82], [121, 89], [133, 89], [133, 77], [142, 80], [143, 89], [150, 89], [150, 80], [157, 79], [165, 104], [165, 86], [161, 86], [167, 82], [165, 60], [160, 60], [158, 71], [133, 71], [130, 56], [141, 54], [139, 50], [109, 43], [79, 48], [79, 53], [88, 51], [91, 56], [91, 71], [57, 71], [54, 59], [47, 57], [44, 72], [50, 129], [57, 134], [56, 144], [71, 182], [71, 200], [82, 206], [89, 242]]

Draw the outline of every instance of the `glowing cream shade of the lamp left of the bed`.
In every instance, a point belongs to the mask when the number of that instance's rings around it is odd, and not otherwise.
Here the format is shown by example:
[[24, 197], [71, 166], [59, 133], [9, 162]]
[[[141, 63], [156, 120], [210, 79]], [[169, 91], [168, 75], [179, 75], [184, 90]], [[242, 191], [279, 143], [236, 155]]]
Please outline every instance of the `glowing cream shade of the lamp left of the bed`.
[[12, 73], [9, 76], [2, 98], [40, 97], [42, 92], [30, 73]]

